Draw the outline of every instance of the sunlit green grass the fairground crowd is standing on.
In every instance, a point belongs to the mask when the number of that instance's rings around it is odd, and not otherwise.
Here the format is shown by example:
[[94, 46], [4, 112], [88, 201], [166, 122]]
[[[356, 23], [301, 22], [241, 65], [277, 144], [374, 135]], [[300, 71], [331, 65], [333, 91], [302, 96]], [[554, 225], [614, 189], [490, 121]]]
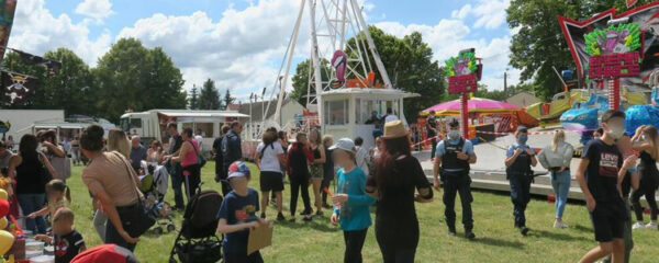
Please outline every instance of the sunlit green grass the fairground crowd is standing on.
[[[203, 188], [220, 191], [213, 181], [214, 163], [209, 162], [202, 171]], [[252, 165], [254, 169], [254, 165]], [[99, 244], [100, 239], [91, 222], [91, 198], [87, 187], [80, 181], [80, 167], [74, 169], [68, 181], [72, 190], [72, 209], [76, 211], [76, 228], [85, 237], [88, 248]], [[253, 170], [254, 171], [254, 170]], [[253, 176], [250, 186], [258, 190], [258, 174]], [[286, 186], [284, 209], [288, 198]], [[167, 199], [172, 203], [172, 191]], [[444, 224], [444, 205], [440, 193], [435, 192], [435, 201], [417, 204], [416, 211], [421, 224], [421, 240], [416, 262], [577, 262], [583, 253], [594, 247], [592, 228], [587, 210], [582, 205], [569, 204], [566, 222], [569, 229], [554, 229], [554, 204], [534, 199], [528, 205], [527, 224], [532, 229], [528, 237], [522, 237], [513, 228], [512, 204], [506, 195], [476, 192], [473, 194], [474, 232], [478, 238], [468, 241], [458, 236], [447, 235]], [[313, 196], [312, 196], [313, 198]], [[459, 201], [457, 202], [459, 204]], [[459, 209], [459, 205], [457, 205]], [[458, 210], [458, 221], [460, 211]], [[284, 215], [289, 216], [288, 213]], [[268, 217], [275, 218], [276, 211], [268, 208]], [[177, 227], [181, 215], [176, 213]], [[632, 262], [657, 262], [659, 255], [659, 232], [635, 231], [636, 248]], [[176, 233], [142, 237], [136, 248], [141, 262], [168, 262], [169, 251]], [[261, 251], [266, 262], [343, 262], [343, 233], [330, 224], [328, 216], [314, 218], [312, 222], [276, 224], [273, 245]], [[380, 252], [369, 229], [364, 248], [365, 262], [381, 262]]]

